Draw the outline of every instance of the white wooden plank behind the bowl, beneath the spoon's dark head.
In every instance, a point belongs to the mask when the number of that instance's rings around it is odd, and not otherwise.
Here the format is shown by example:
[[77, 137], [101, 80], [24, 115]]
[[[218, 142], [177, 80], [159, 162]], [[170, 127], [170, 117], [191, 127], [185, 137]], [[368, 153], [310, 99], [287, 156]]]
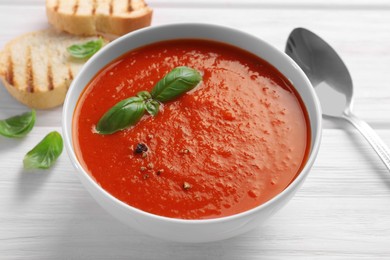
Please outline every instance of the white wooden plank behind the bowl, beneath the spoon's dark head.
[[[0, 27], [0, 47], [24, 32], [46, 28], [48, 25], [44, 12], [44, 8], [39, 6], [0, 8], [0, 21], [15, 21], [12, 26]], [[390, 68], [390, 11], [307, 10], [303, 15], [301, 10], [225, 9], [215, 15], [215, 9], [193, 8], [190, 10], [191, 15], [187, 12], [183, 8], [159, 8], [155, 11], [153, 24], [202, 21], [226, 25], [256, 35], [280, 50], [284, 50], [287, 36], [293, 28], [303, 26], [312, 29], [334, 46], [349, 67], [355, 84], [356, 114], [375, 128], [390, 124], [390, 92], [387, 83]], [[33, 16], [30, 15], [32, 13]], [[0, 118], [25, 109], [2, 87], [0, 101]], [[42, 122], [53, 122], [59, 126], [58, 115], [42, 114], [45, 116]], [[53, 121], [46, 120], [48, 118]], [[325, 126], [334, 127], [334, 124]]]

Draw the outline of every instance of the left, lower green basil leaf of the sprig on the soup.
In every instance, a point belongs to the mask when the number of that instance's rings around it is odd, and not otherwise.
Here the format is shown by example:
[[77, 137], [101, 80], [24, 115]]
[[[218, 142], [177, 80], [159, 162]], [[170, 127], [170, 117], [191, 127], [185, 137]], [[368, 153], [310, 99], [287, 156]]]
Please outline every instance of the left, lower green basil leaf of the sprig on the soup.
[[99, 134], [112, 134], [135, 125], [145, 113], [145, 102], [131, 97], [118, 102], [108, 110], [96, 125]]

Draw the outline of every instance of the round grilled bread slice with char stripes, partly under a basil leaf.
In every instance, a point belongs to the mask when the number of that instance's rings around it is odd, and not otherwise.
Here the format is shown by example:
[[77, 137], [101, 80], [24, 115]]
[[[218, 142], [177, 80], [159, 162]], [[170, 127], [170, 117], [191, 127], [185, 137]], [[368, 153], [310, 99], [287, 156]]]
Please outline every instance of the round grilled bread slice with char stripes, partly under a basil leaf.
[[0, 78], [21, 103], [37, 109], [61, 105], [85, 60], [72, 58], [67, 47], [98, 37], [73, 36], [54, 29], [22, 35], [0, 52]]

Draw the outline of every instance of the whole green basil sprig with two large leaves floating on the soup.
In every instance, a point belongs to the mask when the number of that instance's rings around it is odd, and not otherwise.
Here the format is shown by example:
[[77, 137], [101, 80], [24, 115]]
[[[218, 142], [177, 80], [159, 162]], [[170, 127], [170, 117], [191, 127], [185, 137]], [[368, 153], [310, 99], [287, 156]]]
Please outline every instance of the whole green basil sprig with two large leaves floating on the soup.
[[110, 108], [96, 125], [99, 134], [112, 134], [137, 124], [145, 111], [156, 116], [160, 102], [171, 101], [195, 88], [202, 81], [199, 71], [181, 66], [170, 71], [152, 91], [141, 91], [136, 97], [118, 102]]

